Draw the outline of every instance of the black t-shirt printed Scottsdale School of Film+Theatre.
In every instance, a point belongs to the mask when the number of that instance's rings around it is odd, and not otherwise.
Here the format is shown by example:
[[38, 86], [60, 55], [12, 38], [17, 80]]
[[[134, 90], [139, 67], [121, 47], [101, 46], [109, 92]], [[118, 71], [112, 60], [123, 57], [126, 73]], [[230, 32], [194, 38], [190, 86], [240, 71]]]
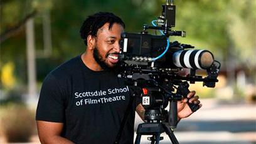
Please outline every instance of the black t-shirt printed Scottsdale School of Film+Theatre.
[[[92, 71], [77, 56], [46, 76], [36, 120], [63, 123], [62, 136], [75, 143], [113, 143], [130, 98], [124, 80], [112, 71]], [[121, 143], [133, 143], [135, 107]]]

